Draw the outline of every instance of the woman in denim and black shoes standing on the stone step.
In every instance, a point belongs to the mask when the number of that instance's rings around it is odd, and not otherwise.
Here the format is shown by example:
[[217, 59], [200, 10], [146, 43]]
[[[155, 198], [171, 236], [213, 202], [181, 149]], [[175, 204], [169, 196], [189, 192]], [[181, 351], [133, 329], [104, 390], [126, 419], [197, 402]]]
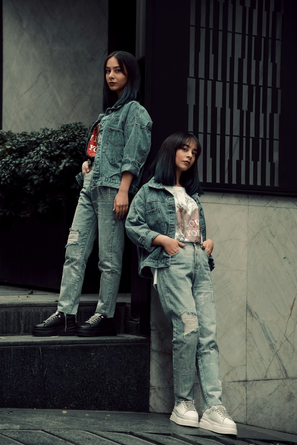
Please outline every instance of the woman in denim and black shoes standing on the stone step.
[[[103, 113], [90, 129], [88, 161], [77, 181], [82, 187], [66, 244], [57, 311], [33, 328], [35, 336], [114, 336], [115, 304], [122, 271], [124, 225], [151, 148], [151, 118], [139, 104], [140, 73], [134, 56], [110, 53], [104, 62]], [[96, 312], [77, 327], [76, 314], [85, 266], [98, 238], [101, 271]]]

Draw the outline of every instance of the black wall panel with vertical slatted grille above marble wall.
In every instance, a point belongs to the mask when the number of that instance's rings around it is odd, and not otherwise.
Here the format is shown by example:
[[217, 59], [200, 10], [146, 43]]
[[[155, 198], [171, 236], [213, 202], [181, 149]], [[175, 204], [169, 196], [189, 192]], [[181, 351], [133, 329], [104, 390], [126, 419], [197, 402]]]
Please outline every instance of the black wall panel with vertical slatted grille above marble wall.
[[188, 130], [202, 146], [205, 189], [296, 193], [296, 2], [146, 3], [150, 159]]

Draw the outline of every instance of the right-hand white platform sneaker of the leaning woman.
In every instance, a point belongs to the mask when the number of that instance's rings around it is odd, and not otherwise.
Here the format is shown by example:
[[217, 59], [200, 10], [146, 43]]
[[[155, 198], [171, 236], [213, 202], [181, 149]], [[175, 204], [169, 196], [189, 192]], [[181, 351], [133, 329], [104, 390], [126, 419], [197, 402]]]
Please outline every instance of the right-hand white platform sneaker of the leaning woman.
[[237, 434], [236, 423], [223, 405], [214, 405], [203, 411], [199, 427], [209, 429], [214, 433]]

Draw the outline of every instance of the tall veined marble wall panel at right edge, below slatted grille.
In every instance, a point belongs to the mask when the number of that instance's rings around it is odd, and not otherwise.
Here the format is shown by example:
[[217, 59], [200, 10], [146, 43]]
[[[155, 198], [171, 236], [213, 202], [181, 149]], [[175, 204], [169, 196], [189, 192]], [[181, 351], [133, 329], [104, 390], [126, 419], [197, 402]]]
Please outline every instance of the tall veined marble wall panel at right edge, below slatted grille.
[[248, 212], [247, 379], [297, 377], [297, 210]]

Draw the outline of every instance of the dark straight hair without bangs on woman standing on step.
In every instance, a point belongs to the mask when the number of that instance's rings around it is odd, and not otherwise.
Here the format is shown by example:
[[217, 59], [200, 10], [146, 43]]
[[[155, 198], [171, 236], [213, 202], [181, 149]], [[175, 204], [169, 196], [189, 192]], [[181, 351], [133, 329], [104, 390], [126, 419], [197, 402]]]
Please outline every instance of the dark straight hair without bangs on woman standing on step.
[[[115, 57], [118, 60], [118, 65], [120, 66], [122, 72], [127, 76], [127, 83], [122, 96], [119, 99], [115, 91], [110, 91], [110, 88], [106, 82], [106, 65], [110, 57]], [[103, 113], [106, 112], [107, 108], [112, 106], [118, 107], [130, 101], [139, 101], [139, 89], [140, 71], [135, 57], [130, 53], [126, 53], [126, 51], [114, 51], [113, 53], [110, 53], [104, 62]]]

